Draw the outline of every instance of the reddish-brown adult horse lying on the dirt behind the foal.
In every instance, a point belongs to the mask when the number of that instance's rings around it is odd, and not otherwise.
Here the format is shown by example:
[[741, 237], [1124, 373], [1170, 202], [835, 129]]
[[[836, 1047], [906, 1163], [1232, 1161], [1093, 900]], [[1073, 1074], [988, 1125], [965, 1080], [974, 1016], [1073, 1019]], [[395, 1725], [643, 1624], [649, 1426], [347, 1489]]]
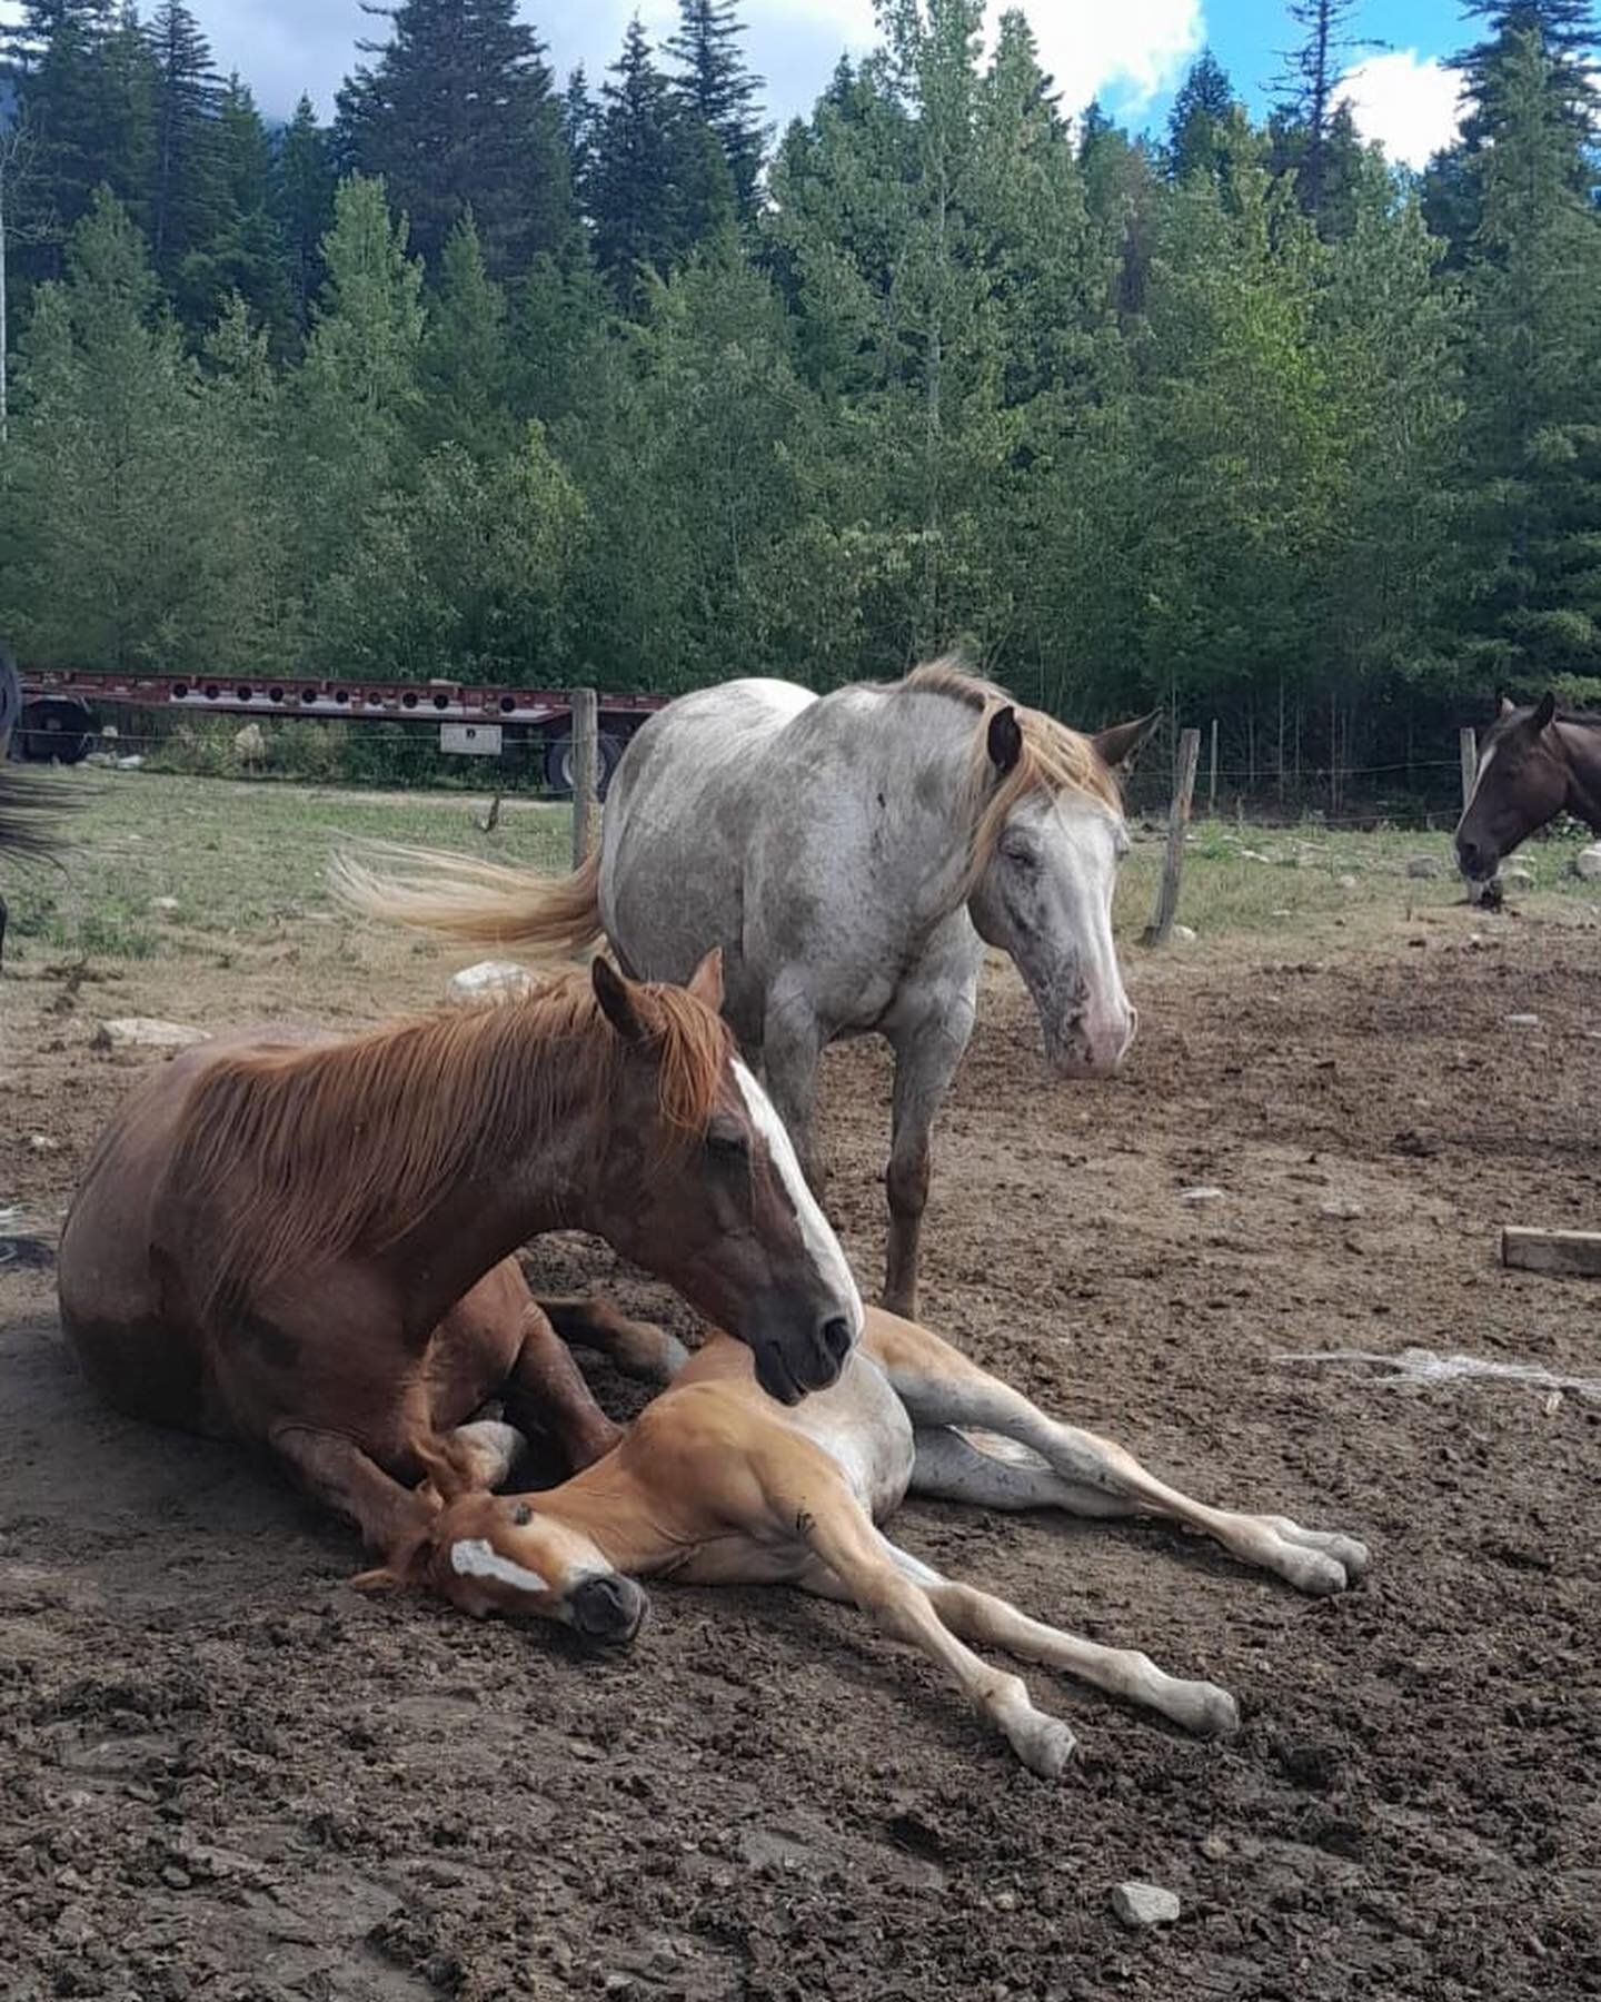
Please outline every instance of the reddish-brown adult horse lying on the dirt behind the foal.
[[136, 1417], [270, 1447], [378, 1550], [424, 1510], [416, 1439], [504, 1475], [504, 1427], [468, 1423], [502, 1391], [572, 1465], [614, 1443], [512, 1257], [538, 1231], [658, 1273], [778, 1399], [833, 1383], [861, 1299], [720, 989], [716, 955], [688, 989], [596, 961], [502, 1007], [186, 1051], [66, 1219], [72, 1349]]

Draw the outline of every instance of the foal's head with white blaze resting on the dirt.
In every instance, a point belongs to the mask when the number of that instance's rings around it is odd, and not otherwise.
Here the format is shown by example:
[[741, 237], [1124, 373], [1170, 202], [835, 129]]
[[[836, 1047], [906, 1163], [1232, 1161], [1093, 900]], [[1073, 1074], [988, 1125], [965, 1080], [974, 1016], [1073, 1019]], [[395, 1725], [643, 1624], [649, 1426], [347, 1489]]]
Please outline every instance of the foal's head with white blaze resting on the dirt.
[[622, 1648], [644, 1626], [650, 1602], [546, 1495], [468, 1489], [442, 1457], [422, 1453], [424, 1493], [438, 1514], [420, 1538], [390, 1552], [356, 1586], [430, 1586], [464, 1614], [556, 1620], [596, 1646]]

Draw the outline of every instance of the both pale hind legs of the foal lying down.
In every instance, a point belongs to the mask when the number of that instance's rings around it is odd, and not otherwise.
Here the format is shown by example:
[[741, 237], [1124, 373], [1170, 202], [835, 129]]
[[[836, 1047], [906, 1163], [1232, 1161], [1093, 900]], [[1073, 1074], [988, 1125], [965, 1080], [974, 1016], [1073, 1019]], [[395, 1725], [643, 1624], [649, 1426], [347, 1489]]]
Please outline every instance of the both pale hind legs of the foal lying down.
[[[1083, 1516], [1165, 1516], [1215, 1538], [1243, 1564], [1277, 1572], [1301, 1592], [1343, 1592], [1367, 1570], [1351, 1536], [1303, 1530], [1287, 1516], [1245, 1516], [1193, 1501], [1111, 1439], [1047, 1417], [1021, 1391], [987, 1375], [927, 1327], [879, 1323], [871, 1353], [917, 1425], [919, 1493], [989, 1508], [1057, 1506]], [[1029, 1485], [1027, 1467], [939, 1427], [979, 1427], [1017, 1439], [1045, 1461], [1055, 1483]], [[989, 1485], [987, 1485], [989, 1483]]]

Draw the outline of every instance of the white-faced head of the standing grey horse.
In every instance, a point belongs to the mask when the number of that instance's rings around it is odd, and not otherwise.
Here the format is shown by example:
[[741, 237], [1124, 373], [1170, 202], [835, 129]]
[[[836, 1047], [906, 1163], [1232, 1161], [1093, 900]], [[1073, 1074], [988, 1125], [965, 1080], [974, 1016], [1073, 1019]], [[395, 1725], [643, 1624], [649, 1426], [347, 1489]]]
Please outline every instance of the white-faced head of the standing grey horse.
[[[981, 823], [983, 861], [969, 911], [985, 943], [1017, 963], [1055, 1069], [1109, 1077], [1139, 1021], [1113, 945], [1117, 865], [1129, 853], [1115, 773], [1133, 765], [1159, 719], [1121, 723], [1091, 739], [1045, 717], [1029, 721], [1041, 733], [1033, 741], [1015, 709], [989, 719], [995, 797], [991, 825]], [[1077, 773], [1069, 747], [1077, 747]]]

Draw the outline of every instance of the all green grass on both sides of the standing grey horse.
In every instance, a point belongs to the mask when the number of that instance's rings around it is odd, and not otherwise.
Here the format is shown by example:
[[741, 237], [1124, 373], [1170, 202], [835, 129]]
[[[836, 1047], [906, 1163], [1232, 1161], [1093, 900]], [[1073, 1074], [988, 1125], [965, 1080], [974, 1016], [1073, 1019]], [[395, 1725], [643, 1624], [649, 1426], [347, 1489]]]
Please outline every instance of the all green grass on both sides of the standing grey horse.
[[[226, 955], [230, 939], [260, 943], [326, 919], [326, 865], [352, 839], [410, 841], [552, 871], [570, 859], [566, 807], [508, 801], [496, 833], [482, 835], [482, 807], [454, 793], [360, 795], [150, 771], [74, 771], [62, 785], [86, 801], [66, 823], [72, 849], [64, 869], [12, 865], [4, 873], [18, 945], [62, 959]], [[1581, 845], [1575, 833], [1527, 843], [1517, 863], [1535, 887], [1517, 891], [1515, 901], [1553, 915], [1599, 903], [1597, 887], [1571, 875]], [[1163, 851], [1161, 839], [1141, 839], [1123, 867], [1117, 931], [1125, 941], [1151, 921]], [[1445, 873], [1409, 877], [1415, 855], [1439, 859]], [[1207, 821], [1185, 847], [1179, 921], [1203, 939], [1281, 937], [1335, 919], [1361, 929], [1457, 905], [1461, 895], [1443, 833]], [[176, 909], [158, 909], [158, 897], [174, 897]]]

